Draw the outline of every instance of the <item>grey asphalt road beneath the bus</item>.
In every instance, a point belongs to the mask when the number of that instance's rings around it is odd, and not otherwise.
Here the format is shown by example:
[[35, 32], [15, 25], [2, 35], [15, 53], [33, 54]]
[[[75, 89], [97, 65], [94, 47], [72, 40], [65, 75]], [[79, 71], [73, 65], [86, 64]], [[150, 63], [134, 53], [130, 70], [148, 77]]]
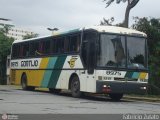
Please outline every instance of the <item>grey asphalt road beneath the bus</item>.
[[160, 103], [88, 96], [72, 98], [68, 93], [23, 91], [0, 86], [0, 114], [160, 114]]

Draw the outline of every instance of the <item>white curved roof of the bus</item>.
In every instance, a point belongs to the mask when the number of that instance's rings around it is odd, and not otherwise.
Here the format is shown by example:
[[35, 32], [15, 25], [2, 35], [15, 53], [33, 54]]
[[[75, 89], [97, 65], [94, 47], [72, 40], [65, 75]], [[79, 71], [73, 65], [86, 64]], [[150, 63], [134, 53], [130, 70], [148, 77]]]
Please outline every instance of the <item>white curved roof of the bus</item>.
[[122, 35], [147, 37], [147, 35], [145, 33], [137, 31], [137, 30], [129, 29], [129, 28], [123, 28], [123, 27], [117, 27], [117, 26], [91, 26], [91, 27], [83, 27], [83, 28], [73, 29], [73, 30], [61, 32], [61, 33], [58, 33], [55, 35], [50, 35], [50, 36], [43, 36], [43, 37], [26, 39], [26, 40], [15, 40], [13, 43], [42, 39], [42, 38], [52, 37], [52, 36], [59, 36], [59, 35], [63, 35], [63, 34], [78, 32], [81, 30], [96, 30], [98, 32], [103, 32], [103, 33], [114, 33], [114, 34], [122, 34]]

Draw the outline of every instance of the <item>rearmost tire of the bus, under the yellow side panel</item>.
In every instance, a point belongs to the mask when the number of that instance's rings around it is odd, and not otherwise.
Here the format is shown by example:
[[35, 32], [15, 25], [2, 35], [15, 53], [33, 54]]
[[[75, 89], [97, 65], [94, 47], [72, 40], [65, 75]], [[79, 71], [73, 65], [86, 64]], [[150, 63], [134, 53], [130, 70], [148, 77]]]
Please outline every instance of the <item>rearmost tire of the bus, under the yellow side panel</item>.
[[28, 85], [27, 85], [27, 76], [26, 76], [26, 74], [23, 74], [23, 75], [22, 75], [22, 78], [21, 78], [21, 86], [22, 86], [22, 89], [23, 89], [23, 90], [30, 90], [30, 91], [35, 90], [35, 87], [33, 87], [33, 86], [28, 86]]

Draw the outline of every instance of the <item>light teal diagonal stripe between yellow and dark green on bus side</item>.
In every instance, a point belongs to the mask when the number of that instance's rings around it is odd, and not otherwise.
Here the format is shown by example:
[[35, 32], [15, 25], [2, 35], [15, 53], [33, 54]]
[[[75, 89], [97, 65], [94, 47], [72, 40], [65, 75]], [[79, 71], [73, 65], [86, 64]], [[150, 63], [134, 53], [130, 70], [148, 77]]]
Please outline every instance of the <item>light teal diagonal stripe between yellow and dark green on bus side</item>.
[[[57, 61], [57, 57], [49, 58], [49, 62], [48, 62], [48, 65], [47, 65], [46, 69], [53, 69], [56, 61]], [[49, 80], [50, 80], [51, 75], [52, 75], [52, 71], [53, 70], [45, 70], [43, 80], [42, 80], [42, 83], [41, 83], [42, 87], [47, 87], [48, 86]]]

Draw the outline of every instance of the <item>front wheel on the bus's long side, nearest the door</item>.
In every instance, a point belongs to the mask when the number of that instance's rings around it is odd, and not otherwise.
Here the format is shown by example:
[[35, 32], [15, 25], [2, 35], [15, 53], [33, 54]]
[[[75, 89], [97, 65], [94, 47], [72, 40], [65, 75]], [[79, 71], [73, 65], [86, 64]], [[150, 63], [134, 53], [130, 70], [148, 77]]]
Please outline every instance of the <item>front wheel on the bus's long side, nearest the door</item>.
[[74, 76], [71, 81], [71, 92], [73, 97], [80, 97], [82, 95], [82, 92], [80, 91], [80, 82], [79, 78]]

